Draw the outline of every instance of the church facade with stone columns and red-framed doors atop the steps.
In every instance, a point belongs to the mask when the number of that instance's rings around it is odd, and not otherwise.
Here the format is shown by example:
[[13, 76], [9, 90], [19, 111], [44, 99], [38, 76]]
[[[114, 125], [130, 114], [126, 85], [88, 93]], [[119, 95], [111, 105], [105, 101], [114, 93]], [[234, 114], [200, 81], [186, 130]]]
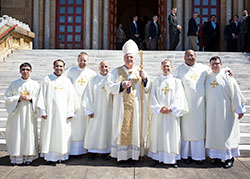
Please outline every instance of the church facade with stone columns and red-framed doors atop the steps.
[[131, 17], [142, 24], [159, 16], [160, 49], [168, 49], [168, 20], [173, 7], [182, 25], [178, 50], [189, 48], [188, 20], [198, 12], [198, 24], [216, 15], [220, 26], [220, 50], [225, 50], [224, 26], [243, 9], [250, 11], [249, 0], [0, 0], [0, 15], [29, 24], [36, 34], [35, 49], [115, 49], [118, 24], [128, 29]]

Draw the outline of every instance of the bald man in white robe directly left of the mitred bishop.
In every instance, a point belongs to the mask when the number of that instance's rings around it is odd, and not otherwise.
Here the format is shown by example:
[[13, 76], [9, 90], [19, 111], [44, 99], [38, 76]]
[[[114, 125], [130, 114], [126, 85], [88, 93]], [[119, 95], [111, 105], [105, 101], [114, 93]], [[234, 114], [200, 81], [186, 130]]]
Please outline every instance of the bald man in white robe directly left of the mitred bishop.
[[85, 115], [89, 117], [84, 148], [92, 153], [93, 157], [95, 153], [109, 154], [111, 150], [113, 101], [105, 89], [109, 69], [108, 62], [100, 63], [100, 73], [89, 81], [83, 96], [82, 105]]

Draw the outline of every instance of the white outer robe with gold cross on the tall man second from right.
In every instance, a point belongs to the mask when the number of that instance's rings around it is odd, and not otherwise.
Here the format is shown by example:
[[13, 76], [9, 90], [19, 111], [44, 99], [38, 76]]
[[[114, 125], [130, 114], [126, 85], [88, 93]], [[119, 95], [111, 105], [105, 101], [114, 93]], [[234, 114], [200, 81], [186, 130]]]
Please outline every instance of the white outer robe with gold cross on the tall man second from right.
[[182, 116], [181, 135], [185, 141], [205, 139], [205, 80], [209, 67], [201, 63], [188, 66], [185, 63], [175, 70], [186, 94], [189, 113]]

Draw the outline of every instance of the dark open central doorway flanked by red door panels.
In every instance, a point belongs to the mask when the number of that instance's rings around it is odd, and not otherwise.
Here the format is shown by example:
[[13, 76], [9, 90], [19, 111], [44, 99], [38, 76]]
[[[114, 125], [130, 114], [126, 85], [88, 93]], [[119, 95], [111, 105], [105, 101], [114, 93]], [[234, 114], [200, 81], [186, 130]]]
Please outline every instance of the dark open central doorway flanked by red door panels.
[[[159, 16], [160, 30], [166, 30], [166, 1], [165, 0], [109, 0], [109, 49], [115, 49], [115, 36], [118, 24], [122, 24], [128, 34], [132, 17], [139, 17], [141, 42], [144, 40], [145, 25], [152, 20], [153, 15]], [[127, 35], [128, 37], [128, 35]], [[159, 49], [166, 48], [165, 34], [159, 42]], [[143, 49], [143, 48], [142, 48]]]

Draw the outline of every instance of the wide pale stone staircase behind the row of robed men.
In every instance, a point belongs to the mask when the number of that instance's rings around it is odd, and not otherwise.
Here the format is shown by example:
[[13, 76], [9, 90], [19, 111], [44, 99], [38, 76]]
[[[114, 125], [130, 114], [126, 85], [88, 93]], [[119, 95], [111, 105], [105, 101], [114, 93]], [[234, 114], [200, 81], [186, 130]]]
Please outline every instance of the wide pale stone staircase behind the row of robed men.
[[[4, 92], [11, 81], [20, 77], [19, 65], [30, 62], [33, 66], [32, 79], [41, 82], [53, 72], [52, 63], [56, 59], [66, 62], [66, 69], [77, 65], [77, 56], [82, 50], [15, 50], [3, 62], [0, 62], [0, 151], [6, 150], [5, 126], [7, 112], [5, 110]], [[108, 61], [111, 69], [123, 64], [121, 51], [85, 50], [89, 54], [88, 66], [98, 71], [100, 61]], [[250, 54], [226, 52], [197, 52], [197, 61], [208, 64], [210, 57], [218, 55], [224, 67], [229, 67], [235, 74], [243, 95], [247, 98], [247, 112], [240, 121], [240, 150], [242, 156], [250, 156]], [[169, 58], [174, 67], [183, 63], [183, 51], [144, 51], [144, 69], [151, 79], [156, 78], [160, 71], [160, 62]], [[139, 65], [139, 56], [137, 65]], [[40, 120], [39, 120], [40, 121]], [[40, 125], [40, 123], [38, 124]]]

